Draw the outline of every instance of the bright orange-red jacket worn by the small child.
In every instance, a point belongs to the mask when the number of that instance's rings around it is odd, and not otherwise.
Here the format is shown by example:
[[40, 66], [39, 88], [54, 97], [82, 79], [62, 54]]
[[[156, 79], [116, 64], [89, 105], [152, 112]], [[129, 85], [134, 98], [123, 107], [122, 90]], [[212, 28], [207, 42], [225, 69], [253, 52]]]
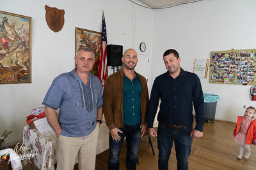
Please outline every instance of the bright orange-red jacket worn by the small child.
[[[234, 130], [234, 136], [236, 136], [240, 130], [243, 117], [238, 116], [236, 129]], [[252, 120], [246, 136], [246, 144], [252, 145], [252, 141], [256, 140], [256, 120]]]

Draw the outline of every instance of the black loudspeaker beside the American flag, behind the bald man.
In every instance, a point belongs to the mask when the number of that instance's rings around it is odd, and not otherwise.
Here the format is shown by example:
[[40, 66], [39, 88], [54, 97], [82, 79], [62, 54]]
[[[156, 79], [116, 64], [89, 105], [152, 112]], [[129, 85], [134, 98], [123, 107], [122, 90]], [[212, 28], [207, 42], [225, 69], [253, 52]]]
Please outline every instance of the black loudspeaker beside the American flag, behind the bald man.
[[107, 45], [108, 66], [122, 66], [122, 57], [122, 45]]

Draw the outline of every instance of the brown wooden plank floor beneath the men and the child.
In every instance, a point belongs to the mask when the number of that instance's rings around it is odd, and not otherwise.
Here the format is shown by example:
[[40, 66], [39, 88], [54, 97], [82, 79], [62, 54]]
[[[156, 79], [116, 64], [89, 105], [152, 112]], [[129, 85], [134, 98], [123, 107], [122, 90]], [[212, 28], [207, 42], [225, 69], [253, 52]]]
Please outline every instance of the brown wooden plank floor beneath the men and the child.
[[[193, 140], [191, 154], [189, 156], [189, 170], [192, 169], [256, 169], [256, 146], [251, 145], [250, 159], [237, 160], [239, 145], [234, 142], [235, 124], [216, 120], [212, 123], [205, 123], [204, 136]], [[148, 143], [148, 137], [141, 139], [137, 165], [139, 170], [158, 169], [157, 139], [151, 138], [156, 155], [152, 154]], [[245, 151], [244, 151], [245, 153]], [[109, 150], [102, 152], [96, 157], [97, 170], [108, 169]], [[120, 169], [125, 169], [126, 143], [122, 146], [120, 153]], [[37, 169], [32, 164], [27, 164], [23, 169]], [[78, 169], [77, 164], [74, 169]], [[177, 169], [175, 150], [169, 160], [169, 169]]]

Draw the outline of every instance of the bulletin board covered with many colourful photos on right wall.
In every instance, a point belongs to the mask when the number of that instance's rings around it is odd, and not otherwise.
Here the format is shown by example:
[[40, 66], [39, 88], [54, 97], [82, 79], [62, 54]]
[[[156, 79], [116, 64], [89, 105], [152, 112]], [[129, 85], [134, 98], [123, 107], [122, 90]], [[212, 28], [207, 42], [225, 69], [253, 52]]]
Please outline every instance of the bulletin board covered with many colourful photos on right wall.
[[255, 52], [256, 49], [211, 52], [209, 83], [255, 85]]

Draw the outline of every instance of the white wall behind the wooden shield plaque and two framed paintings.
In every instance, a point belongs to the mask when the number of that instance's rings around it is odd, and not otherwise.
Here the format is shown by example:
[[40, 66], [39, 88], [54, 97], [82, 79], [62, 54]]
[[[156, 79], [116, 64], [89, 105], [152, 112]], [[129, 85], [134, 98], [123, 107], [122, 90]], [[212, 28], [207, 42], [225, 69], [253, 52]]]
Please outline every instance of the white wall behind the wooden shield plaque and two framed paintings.
[[[65, 10], [65, 24], [60, 32], [51, 31], [46, 24], [45, 4]], [[144, 41], [147, 53], [151, 53], [153, 12], [131, 1], [0, 0], [0, 10], [32, 17], [32, 83], [0, 85], [0, 133], [5, 129], [13, 131], [6, 140], [7, 144], [22, 140], [26, 117], [33, 108], [43, 106], [42, 101], [52, 80], [74, 69], [75, 28], [101, 32], [102, 10], [108, 44], [138, 51], [141, 41]]]

